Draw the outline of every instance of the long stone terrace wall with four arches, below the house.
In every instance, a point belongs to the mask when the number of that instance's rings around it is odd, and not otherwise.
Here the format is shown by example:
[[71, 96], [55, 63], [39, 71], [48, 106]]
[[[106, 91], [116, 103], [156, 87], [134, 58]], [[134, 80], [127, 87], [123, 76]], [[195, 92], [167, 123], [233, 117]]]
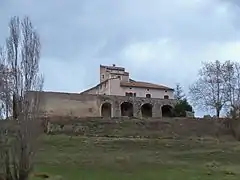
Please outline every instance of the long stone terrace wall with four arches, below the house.
[[[29, 94], [34, 92], [29, 92]], [[102, 105], [111, 104], [111, 117], [120, 117], [121, 104], [131, 103], [133, 116], [142, 117], [141, 107], [143, 104], [152, 106], [152, 117], [161, 117], [161, 107], [173, 106], [175, 101], [171, 99], [141, 98], [126, 96], [91, 95], [78, 93], [42, 92], [41, 109], [48, 115], [73, 115], [78, 117], [102, 116]]]

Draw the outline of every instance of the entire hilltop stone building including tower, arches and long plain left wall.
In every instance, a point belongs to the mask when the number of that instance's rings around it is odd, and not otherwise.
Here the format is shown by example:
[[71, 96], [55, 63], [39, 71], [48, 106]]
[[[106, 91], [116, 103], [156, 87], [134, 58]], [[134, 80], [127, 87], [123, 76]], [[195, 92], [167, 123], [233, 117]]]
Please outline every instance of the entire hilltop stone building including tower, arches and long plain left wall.
[[79, 117], [171, 116], [173, 89], [129, 78], [123, 67], [100, 65], [100, 82], [81, 93], [43, 92], [42, 110]]

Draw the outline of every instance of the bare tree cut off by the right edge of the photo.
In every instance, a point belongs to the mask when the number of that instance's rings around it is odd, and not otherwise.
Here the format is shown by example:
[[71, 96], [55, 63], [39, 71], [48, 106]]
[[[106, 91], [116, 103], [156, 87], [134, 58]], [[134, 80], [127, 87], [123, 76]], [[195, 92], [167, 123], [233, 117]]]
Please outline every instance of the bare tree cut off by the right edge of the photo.
[[224, 93], [227, 106], [233, 116], [239, 116], [240, 111], [240, 64], [226, 61], [223, 64]]

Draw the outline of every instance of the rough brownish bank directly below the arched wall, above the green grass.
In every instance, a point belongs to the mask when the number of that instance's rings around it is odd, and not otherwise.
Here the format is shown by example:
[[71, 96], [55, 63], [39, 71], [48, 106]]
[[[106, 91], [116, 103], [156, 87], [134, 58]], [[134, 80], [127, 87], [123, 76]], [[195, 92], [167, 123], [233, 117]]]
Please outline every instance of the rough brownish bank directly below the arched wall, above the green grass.
[[196, 118], [73, 118], [48, 119], [49, 134], [68, 134], [100, 137], [190, 138], [228, 137], [231, 132], [221, 121]]

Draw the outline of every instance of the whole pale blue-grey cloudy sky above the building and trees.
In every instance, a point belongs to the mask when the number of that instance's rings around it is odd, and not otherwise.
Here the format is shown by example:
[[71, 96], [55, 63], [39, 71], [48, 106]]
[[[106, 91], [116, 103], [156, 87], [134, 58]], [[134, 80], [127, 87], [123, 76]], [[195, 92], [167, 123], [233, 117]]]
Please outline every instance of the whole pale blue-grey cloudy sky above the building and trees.
[[202, 61], [240, 60], [239, 0], [0, 0], [0, 43], [11, 16], [30, 16], [45, 89], [80, 92], [99, 64], [187, 91]]

